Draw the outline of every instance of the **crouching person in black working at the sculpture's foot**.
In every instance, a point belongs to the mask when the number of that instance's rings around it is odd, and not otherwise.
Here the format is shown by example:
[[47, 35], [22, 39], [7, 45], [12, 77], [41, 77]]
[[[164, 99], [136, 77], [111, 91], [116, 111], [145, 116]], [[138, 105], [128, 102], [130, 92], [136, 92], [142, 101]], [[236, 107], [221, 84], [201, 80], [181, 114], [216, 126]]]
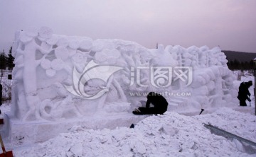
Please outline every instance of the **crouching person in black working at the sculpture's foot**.
[[[132, 112], [134, 115], [163, 115], [164, 112], [166, 112], [168, 103], [162, 95], [159, 93], [150, 92], [146, 98], [146, 107], [139, 107], [138, 109], [135, 109]], [[154, 105], [154, 107], [149, 107], [150, 104]]]

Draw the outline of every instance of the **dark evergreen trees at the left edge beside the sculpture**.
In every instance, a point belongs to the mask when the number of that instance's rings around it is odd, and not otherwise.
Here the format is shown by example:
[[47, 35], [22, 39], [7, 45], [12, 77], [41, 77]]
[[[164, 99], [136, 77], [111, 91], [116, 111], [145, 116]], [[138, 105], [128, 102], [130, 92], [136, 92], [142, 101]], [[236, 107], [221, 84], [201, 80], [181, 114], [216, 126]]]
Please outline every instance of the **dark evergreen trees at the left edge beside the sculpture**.
[[5, 70], [5, 69], [9, 69], [10, 71], [12, 71], [12, 69], [15, 66], [15, 64], [14, 64], [14, 57], [11, 54], [11, 51], [12, 51], [12, 47], [10, 48], [10, 50], [9, 50], [7, 55], [4, 52], [4, 50], [2, 52], [0, 52], [0, 69], [1, 69], [1, 74], [3, 74], [3, 70]]

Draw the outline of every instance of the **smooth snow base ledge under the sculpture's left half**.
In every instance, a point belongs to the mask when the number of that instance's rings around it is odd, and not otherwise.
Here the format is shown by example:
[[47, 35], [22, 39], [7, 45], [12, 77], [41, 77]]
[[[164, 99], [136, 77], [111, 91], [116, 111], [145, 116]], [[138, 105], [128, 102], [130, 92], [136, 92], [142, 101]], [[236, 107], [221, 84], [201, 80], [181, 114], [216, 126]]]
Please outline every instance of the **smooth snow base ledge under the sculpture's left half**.
[[[73, 132], [82, 128], [87, 129], [114, 129], [130, 127], [132, 123], [143, 120], [146, 115], [134, 116], [130, 113], [107, 117], [84, 117], [73, 120], [22, 122], [9, 114], [4, 115], [4, 136], [8, 136], [11, 144], [28, 145], [47, 141], [58, 134]], [[9, 129], [6, 129], [8, 127]], [[6, 132], [8, 130], [8, 132]], [[26, 130], [26, 132], [24, 132]]]

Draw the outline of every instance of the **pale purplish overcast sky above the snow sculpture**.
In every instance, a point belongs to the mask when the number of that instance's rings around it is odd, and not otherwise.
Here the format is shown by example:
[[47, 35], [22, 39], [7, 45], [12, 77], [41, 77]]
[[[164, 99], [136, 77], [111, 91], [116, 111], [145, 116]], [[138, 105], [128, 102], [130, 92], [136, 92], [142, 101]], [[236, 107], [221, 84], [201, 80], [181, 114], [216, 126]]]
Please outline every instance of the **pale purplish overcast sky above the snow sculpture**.
[[256, 52], [256, 0], [0, 0], [0, 51], [16, 30]]

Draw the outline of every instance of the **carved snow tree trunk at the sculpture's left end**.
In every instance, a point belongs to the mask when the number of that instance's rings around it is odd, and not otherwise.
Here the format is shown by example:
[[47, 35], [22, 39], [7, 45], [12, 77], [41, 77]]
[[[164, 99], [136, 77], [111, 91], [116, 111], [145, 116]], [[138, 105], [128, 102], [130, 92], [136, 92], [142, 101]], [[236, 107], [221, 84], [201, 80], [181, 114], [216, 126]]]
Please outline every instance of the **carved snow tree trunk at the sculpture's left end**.
[[23, 86], [28, 111], [23, 115], [23, 120], [40, 119], [39, 112], [36, 112], [36, 107], [41, 101], [37, 92], [36, 69], [37, 66], [41, 64], [42, 59], [36, 60], [36, 52], [44, 52], [45, 55], [43, 58], [46, 57], [48, 52], [45, 52], [45, 50], [38, 45], [36, 37], [41, 38], [41, 40], [45, 40], [50, 38], [53, 35], [52, 33], [52, 30], [49, 28], [41, 28], [39, 33], [37, 30], [31, 30], [27, 33], [21, 32], [20, 34], [20, 40], [23, 42], [26, 40], [23, 50]]

